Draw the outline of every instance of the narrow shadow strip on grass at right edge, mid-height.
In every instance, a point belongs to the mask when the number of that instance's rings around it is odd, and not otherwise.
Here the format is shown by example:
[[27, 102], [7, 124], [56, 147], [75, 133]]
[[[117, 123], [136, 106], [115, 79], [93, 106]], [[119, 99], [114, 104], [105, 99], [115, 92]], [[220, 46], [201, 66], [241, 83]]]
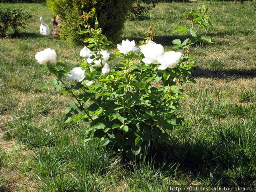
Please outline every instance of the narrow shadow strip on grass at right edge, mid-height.
[[223, 70], [223, 69], [205, 69], [200, 68], [198, 66], [194, 67], [191, 70], [191, 77], [197, 78], [217, 78], [217, 79], [226, 79], [226, 78], [255, 78], [256, 77], [256, 70], [238, 70], [238, 69], [230, 69], [230, 70]]

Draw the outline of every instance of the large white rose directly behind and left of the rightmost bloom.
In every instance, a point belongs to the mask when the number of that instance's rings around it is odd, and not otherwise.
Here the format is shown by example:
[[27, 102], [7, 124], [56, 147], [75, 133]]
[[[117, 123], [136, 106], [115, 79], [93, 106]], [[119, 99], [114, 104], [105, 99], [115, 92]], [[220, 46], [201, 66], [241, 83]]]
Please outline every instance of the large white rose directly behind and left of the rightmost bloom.
[[158, 56], [164, 53], [164, 47], [160, 44], [148, 40], [146, 45], [140, 46], [140, 51], [144, 54], [145, 58], [142, 61], [146, 64], [159, 64], [157, 61]]

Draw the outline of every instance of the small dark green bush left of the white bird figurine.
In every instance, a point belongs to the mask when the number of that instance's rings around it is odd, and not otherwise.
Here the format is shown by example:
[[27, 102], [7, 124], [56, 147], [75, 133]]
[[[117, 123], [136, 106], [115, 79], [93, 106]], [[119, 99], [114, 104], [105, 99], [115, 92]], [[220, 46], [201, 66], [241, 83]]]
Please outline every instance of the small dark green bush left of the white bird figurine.
[[19, 27], [25, 28], [25, 21], [30, 17], [22, 7], [0, 6], [0, 36], [4, 36], [8, 28], [12, 28], [14, 34], [17, 34]]

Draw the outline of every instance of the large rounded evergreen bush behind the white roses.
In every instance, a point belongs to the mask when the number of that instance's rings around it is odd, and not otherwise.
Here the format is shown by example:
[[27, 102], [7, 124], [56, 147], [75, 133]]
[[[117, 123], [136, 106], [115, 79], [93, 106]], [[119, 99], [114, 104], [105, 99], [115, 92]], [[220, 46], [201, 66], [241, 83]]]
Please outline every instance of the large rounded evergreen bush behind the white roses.
[[94, 28], [98, 18], [102, 32], [112, 41], [118, 41], [129, 8], [134, 0], [46, 0], [54, 15], [64, 20], [61, 24], [61, 38], [70, 43], [83, 44], [86, 19]]

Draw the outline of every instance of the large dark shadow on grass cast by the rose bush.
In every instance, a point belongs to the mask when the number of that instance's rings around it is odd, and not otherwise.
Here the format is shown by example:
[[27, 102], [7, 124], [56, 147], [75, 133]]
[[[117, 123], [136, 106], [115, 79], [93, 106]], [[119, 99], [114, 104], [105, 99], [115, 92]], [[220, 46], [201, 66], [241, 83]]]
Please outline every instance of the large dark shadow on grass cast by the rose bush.
[[[191, 179], [187, 182], [195, 180], [204, 185], [256, 188], [255, 172], [250, 168], [255, 166], [255, 160], [252, 160], [254, 157], [248, 156], [246, 149], [236, 151], [228, 144], [230, 140], [232, 143], [232, 140], [236, 139], [236, 135], [229, 133], [226, 136], [230, 138], [220, 138], [219, 142], [215, 143], [207, 142], [204, 138], [185, 138], [184, 142], [180, 143], [176, 138], [172, 145], [162, 145], [158, 151], [154, 150], [147, 161], [154, 160], [156, 168], [162, 168], [162, 172], [170, 171], [168, 166], [176, 164], [176, 170], [172, 171], [178, 173], [178, 180], [183, 180], [184, 176], [189, 175]], [[166, 167], [162, 167], [163, 164]]]

